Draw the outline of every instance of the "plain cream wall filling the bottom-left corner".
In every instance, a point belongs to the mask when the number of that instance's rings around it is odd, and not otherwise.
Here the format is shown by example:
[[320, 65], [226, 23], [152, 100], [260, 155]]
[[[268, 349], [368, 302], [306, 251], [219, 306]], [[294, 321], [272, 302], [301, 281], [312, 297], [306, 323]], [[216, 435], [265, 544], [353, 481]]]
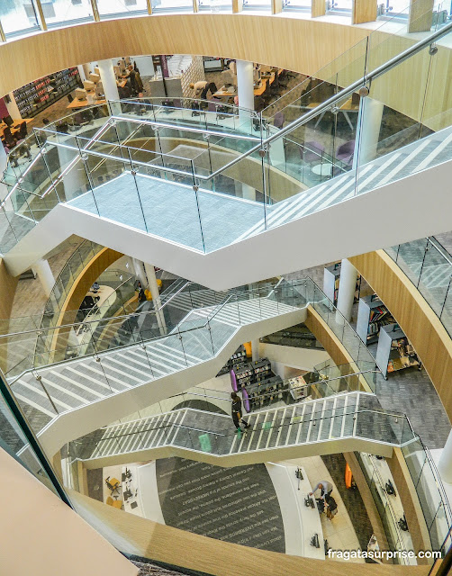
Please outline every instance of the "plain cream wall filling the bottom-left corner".
[[138, 568], [0, 448], [2, 576], [136, 576]]

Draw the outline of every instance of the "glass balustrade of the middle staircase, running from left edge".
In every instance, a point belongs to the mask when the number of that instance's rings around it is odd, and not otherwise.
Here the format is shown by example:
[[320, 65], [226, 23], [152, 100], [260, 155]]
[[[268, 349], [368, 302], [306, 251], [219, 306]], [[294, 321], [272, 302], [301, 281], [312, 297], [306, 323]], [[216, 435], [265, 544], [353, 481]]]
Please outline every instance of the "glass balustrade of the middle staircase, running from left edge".
[[[202, 292], [190, 292], [190, 286], [184, 286], [175, 297], [168, 299], [159, 311], [98, 319], [88, 315], [85, 321], [76, 324], [54, 329], [30, 330], [13, 337], [0, 338], [0, 346], [3, 348], [0, 357], [4, 363], [4, 372], [32, 427], [39, 430], [49, 419], [77, 408], [80, 401], [85, 403], [78, 398], [78, 394], [72, 394], [68, 401], [65, 392], [61, 396], [61, 386], [54, 383], [54, 377], [59, 378], [59, 374], [66, 374], [66, 366], [71, 359], [79, 359], [76, 373], [69, 369], [72, 379], [77, 380], [80, 376], [83, 380], [87, 377], [87, 380], [92, 382], [94, 376], [95, 379], [100, 377], [101, 390], [93, 392], [98, 399], [119, 392], [118, 370], [121, 377], [126, 378], [129, 387], [149, 383], [184, 367], [214, 358], [240, 326], [296, 311], [305, 307], [308, 302], [312, 303], [314, 310], [321, 314], [344, 347], [348, 348], [354, 360], [350, 366], [356, 374], [349, 376], [346, 382], [338, 377], [338, 374], [331, 372], [330, 383], [323, 386], [321, 395], [326, 396], [331, 391], [336, 393], [348, 388], [375, 391], [378, 373], [373, 357], [343, 317], [333, 311], [332, 304], [327, 302], [324, 294], [310, 279], [290, 283], [281, 281], [273, 286], [264, 284], [248, 291], [228, 293], [220, 304], [213, 306], [212, 291], [204, 289]], [[175, 314], [172, 310], [172, 307], [176, 308], [177, 296], [183, 297], [185, 313], [178, 311]], [[191, 311], [187, 313], [188, 298], [192, 299], [194, 306], [199, 306], [203, 299], [208, 300], [210, 306], [203, 308], [206, 314], [200, 316], [198, 313], [192, 315]], [[37, 350], [42, 350], [41, 353], [30, 354], [31, 341]], [[126, 350], [137, 345], [132, 354], [133, 358], [131, 356], [129, 359], [129, 371], [125, 371], [124, 361], [127, 361], [128, 357]], [[160, 357], [161, 346], [174, 358], [169, 364], [167, 357]], [[108, 353], [107, 356], [102, 354], [105, 352]], [[135, 368], [130, 367], [133, 364], [132, 359], [138, 362]], [[340, 373], [340, 369], [338, 370]], [[80, 371], [81, 374], [78, 374]], [[128, 373], [131, 374], [131, 379], [126, 376]], [[63, 376], [63, 379], [67, 385], [67, 376]], [[24, 400], [23, 387], [34, 390], [33, 393], [41, 396], [40, 401], [45, 404], [41, 407], [42, 410], [35, 409], [36, 402], [30, 404]], [[27, 394], [28, 392], [25, 392], [25, 395]]]

